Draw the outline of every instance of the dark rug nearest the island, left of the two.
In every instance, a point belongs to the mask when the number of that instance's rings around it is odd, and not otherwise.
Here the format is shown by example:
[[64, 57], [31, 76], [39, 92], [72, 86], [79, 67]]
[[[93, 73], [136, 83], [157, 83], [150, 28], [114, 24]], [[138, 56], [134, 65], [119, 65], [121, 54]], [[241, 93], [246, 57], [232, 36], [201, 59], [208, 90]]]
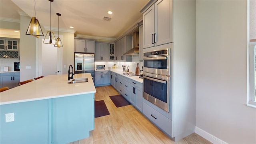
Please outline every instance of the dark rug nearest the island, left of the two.
[[104, 100], [94, 101], [94, 118], [106, 115], [109, 115], [109, 112]]

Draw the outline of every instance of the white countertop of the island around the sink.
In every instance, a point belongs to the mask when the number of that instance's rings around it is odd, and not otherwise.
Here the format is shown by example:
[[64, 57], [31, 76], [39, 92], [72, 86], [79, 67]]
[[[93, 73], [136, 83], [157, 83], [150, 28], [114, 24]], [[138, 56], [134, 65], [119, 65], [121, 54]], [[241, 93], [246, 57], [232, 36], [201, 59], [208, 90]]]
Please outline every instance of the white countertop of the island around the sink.
[[45, 76], [1, 92], [0, 105], [96, 92], [90, 73], [75, 74], [74, 78], [88, 78], [88, 82], [68, 84], [68, 74]]

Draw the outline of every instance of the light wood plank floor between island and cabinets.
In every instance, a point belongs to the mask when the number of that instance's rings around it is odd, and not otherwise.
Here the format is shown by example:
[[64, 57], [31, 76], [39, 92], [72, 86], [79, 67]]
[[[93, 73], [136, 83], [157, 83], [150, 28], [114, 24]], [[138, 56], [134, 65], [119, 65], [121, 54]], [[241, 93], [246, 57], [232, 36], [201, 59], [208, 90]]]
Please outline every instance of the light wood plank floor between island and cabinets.
[[90, 137], [70, 144], [211, 144], [196, 133], [172, 141], [132, 105], [116, 108], [109, 96], [118, 94], [112, 86], [96, 87], [95, 100], [104, 100], [110, 115], [95, 118]]

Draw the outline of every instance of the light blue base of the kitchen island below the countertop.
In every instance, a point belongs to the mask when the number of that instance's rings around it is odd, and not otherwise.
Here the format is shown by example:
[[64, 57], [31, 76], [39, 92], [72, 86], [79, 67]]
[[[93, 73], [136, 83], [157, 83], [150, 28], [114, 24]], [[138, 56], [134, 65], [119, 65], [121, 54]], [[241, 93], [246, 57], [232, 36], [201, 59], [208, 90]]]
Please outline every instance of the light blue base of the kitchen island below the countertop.
[[[5, 114], [14, 113], [14, 122]], [[1, 144], [65, 144], [94, 129], [94, 93], [0, 105]]]

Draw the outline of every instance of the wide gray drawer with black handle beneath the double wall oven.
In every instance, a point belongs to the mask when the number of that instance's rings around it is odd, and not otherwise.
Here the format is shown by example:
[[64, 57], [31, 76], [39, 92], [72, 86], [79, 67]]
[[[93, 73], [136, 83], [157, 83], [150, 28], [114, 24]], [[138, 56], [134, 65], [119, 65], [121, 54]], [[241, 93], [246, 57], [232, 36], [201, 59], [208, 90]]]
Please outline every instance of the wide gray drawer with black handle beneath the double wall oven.
[[154, 108], [148, 106], [144, 102], [143, 102], [143, 114], [149, 120], [151, 120], [154, 124], [156, 124], [156, 126], [158, 126], [164, 132], [166, 132], [171, 137], [173, 137], [173, 135], [172, 135], [172, 120], [166, 118], [164, 115], [160, 114], [158, 111], [156, 111]]

